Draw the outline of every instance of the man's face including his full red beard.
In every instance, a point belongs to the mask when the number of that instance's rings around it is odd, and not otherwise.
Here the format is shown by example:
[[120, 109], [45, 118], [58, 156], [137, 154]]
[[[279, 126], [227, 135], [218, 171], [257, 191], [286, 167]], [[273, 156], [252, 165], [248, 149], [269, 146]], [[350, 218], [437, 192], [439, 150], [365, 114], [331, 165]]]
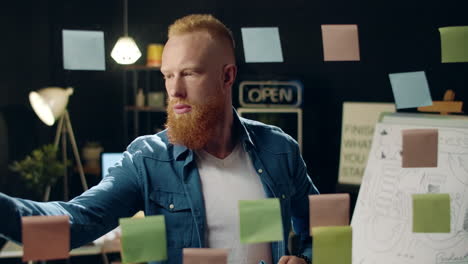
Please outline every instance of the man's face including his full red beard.
[[161, 72], [168, 94], [168, 136], [190, 149], [205, 146], [226, 106], [221, 49], [205, 32], [173, 36], [166, 43]]

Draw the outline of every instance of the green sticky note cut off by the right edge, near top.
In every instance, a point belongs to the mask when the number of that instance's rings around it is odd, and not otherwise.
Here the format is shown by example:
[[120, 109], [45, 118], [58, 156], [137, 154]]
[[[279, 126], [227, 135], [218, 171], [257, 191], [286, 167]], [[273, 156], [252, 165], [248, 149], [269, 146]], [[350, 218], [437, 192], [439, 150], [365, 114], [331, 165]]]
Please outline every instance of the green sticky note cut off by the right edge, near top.
[[468, 26], [439, 28], [442, 62], [468, 62]]

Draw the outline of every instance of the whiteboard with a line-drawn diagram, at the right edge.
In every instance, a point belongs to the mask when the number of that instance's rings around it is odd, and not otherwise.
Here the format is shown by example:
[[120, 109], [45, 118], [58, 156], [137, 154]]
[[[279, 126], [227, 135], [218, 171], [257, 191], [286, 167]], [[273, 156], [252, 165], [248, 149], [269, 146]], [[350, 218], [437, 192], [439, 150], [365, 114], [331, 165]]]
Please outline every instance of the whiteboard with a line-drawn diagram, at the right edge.
[[[377, 124], [354, 210], [354, 264], [468, 263], [468, 129], [439, 131], [436, 168], [402, 168], [401, 130]], [[450, 233], [413, 233], [415, 193], [449, 193]]]

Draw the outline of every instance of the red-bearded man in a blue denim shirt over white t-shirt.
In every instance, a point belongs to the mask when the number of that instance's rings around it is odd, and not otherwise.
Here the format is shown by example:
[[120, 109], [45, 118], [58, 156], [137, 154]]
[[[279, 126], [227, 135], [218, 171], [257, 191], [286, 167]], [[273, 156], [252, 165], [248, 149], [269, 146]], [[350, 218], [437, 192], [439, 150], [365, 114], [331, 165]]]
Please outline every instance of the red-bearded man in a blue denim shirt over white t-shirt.
[[[21, 216], [66, 214], [72, 247], [78, 247], [144, 210], [165, 216], [167, 263], [181, 263], [189, 247], [228, 248], [233, 264], [307, 263], [308, 195], [318, 192], [290, 136], [233, 110], [231, 32], [211, 15], [190, 15], [171, 25], [168, 37], [161, 66], [167, 129], [132, 142], [97, 186], [70, 202], [0, 194], [0, 233], [20, 241]], [[238, 201], [267, 197], [280, 200], [283, 241], [241, 245]], [[301, 256], [286, 256], [291, 220], [303, 242]]]

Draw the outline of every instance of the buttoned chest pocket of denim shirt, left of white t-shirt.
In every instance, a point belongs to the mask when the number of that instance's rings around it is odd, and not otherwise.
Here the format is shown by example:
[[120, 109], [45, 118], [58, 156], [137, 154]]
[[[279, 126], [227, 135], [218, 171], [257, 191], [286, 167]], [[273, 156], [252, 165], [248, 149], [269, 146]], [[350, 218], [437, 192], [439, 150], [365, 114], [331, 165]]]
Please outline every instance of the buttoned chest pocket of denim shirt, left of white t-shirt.
[[164, 215], [165, 217], [167, 246], [189, 247], [194, 224], [187, 196], [178, 192], [154, 190], [149, 198], [149, 215]]

